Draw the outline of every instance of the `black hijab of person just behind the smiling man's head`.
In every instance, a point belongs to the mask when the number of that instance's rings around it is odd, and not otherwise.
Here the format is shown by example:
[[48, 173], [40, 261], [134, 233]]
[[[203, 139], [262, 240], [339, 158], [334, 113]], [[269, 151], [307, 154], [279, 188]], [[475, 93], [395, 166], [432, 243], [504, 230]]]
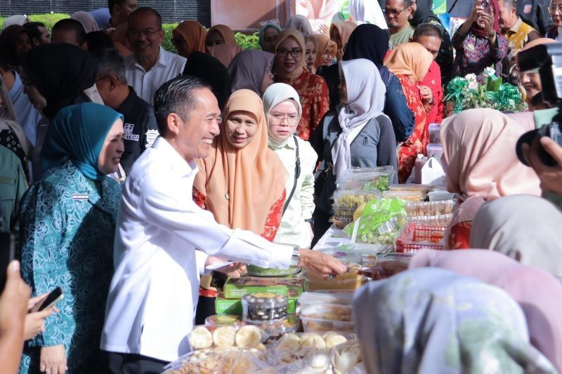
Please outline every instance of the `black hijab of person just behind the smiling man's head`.
[[183, 75], [197, 76], [211, 84], [213, 93], [218, 101], [218, 107], [223, 110], [228, 96], [230, 96], [230, 78], [228, 69], [216, 58], [207, 53], [193, 51], [185, 62]]

